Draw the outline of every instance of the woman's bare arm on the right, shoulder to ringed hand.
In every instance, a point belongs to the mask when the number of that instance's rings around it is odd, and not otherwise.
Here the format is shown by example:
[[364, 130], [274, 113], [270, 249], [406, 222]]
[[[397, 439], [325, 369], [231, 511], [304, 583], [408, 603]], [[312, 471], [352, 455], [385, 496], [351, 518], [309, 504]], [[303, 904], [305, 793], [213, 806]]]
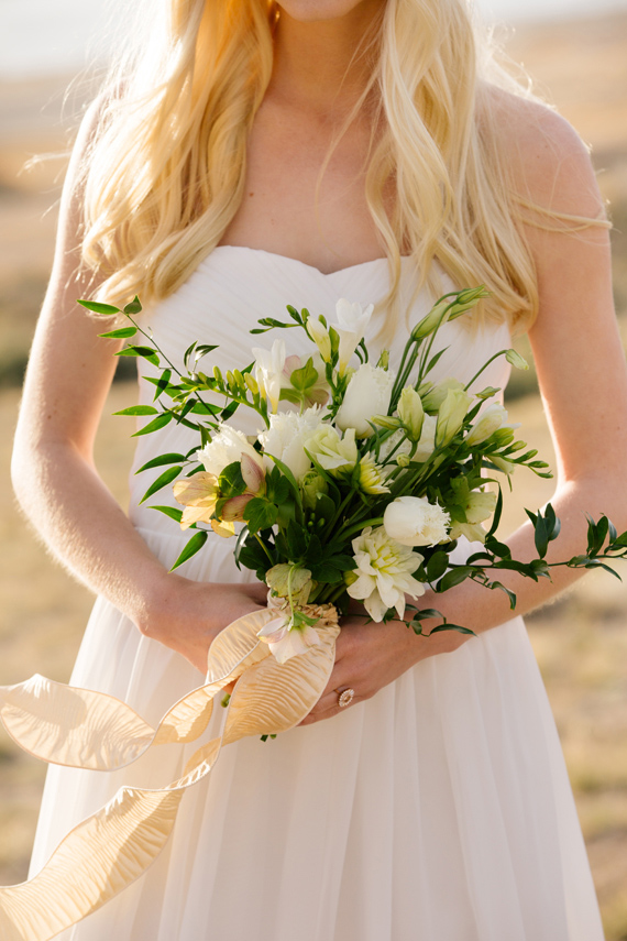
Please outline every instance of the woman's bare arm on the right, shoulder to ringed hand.
[[[521, 195], [561, 212], [602, 215], [587, 152], [572, 128], [542, 106], [509, 95], [499, 97], [496, 107], [502, 145]], [[586, 512], [595, 517], [607, 514], [618, 532], [627, 528], [627, 370], [614, 314], [607, 231], [591, 227], [566, 234], [529, 226], [525, 234], [540, 294], [540, 313], [529, 339], [557, 451], [551, 503], [562, 521], [548, 560], [563, 560], [585, 549]], [[529, 523], [507, 541], [514, 558], [536, 555]], [[525, 614], [581, 575], [581, 569], [558, 568], [551, 581], [536, 583], [502, 571], [499, 580], [515, 591], [516, 613]], [[476, 634], [513, 616], [503, 592], [470, 581], [442, 595], [425, 595], [420, 606], [436, 608]], [[348, 620], [329, 685], [305, 722], [339, 712], [338, 687], [351, 686], [356, 700], [367, 699], [420, 659], [454, 650], [466, 639], [453, 632], [416, 637], [399, 622]]]

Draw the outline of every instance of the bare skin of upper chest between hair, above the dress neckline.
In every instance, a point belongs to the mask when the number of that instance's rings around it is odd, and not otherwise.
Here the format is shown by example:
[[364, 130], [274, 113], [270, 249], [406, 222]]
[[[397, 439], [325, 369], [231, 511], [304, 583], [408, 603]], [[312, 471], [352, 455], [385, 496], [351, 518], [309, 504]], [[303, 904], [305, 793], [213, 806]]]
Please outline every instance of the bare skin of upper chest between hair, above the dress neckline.
[[385, 252], [365, 198], [371, 125], [358, 119], [333, 149], [340, 122], [264, 101], [251, 132], [242, 204], [222, 244], [289, 255], [331, 272]]

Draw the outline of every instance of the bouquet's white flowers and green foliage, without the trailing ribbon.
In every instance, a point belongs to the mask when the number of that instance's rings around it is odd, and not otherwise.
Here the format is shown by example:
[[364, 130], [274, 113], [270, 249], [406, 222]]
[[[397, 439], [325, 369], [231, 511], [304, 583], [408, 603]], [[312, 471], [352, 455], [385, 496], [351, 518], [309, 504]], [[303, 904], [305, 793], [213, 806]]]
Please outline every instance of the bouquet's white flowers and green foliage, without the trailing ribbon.
[[[497, 578], [503, 569], [535, 580], [556, 565], [602, 566], [616, 575], [604, 559], [625, 555], [627, 534], [618, 536], [605, 516], [590, 519], [586, 552], [564, 562], [546, 560], [560, 530], [550, 504], [543, 513], [527, 511], [538, 554], [531, 561], [513, 559], [496, 536], [498, 480], [510, 483], [519, 466], [551, 473], [516, 438], [517, 426], [496, 401], [501, 390], [471, 390], [498, 357], [519, 369], [527, 363], [505, 349], [465, 384], [454, 376], [430, 380], [446, 350], [435, 346], [439, 330], [485, 296], [480, 286], [441, 297], [413, 328], [396, 370], [387, 350], [376, 364], [371, 360], [364, 333], [373, 306], [346, 299], [338, 302], [333, 324], [292, 306], [287, 320], [258, 320], [252, 333], [302, 330], [311, 352], [290, 355], [285, 340], [275, 339], [271, 349], [253, 347], [254, 359], [241, 371], [204, 366], [217, 347], [199, 342], [178, 370], [136, 319], [138, 298], [123, 310], [80, 302], [101, 315], [123, 315], [130, 326], [101, 336], [130, 341], [141, 335], [141, 344], [129, 342], [118, 355], [144, 358], [160, 370], [146, 376], [155, 385], [154, 404], [118, 414], [150, 418], [138, 435], [169, 422], [198, 435], [188, 453], [160, 455], [138, 471], [167, 467], [143, 500], [174, 482], [184, 508], [154, 510], [195, 530], [173, 568], [199, 551], [211, 532], [233, 537], [237, 565], [268, 587], [274, 616], [260, 637], [279, 663], [318, 643], [320, 605], [344, 613], [352, 599], [373, 621], [406, 619], [417, 634], [427, 633], [429, 619], [441, 622], [429, 633], [472, 633], [413, 602], [427, 587], [442, 593], [472, 579], [506, 592], [514, 609], [515, 594]], [[238, 429], [240, 408], [256, 413], [256, 436]], [[460, 537], [482, 545], [455, 562]]]

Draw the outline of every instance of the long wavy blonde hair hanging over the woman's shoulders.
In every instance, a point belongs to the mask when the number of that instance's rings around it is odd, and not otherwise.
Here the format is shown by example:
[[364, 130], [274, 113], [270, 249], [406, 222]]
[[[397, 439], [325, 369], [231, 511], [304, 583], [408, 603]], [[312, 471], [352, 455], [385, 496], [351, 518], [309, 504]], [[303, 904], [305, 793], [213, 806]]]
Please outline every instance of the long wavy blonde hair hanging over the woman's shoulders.
[[[152, 43], [112, 72], [85, 162], [82, 263], [109, 302], [168, 296], [220, 242], [242, 200], [248, 136], [272, 73], [268, 0], [167, 0], [161, 17]], [[491, 133], [488, 59], [466, 0], [386, 0], [371, 40], [359, 52], [373, 68], [358, 109], [374, 99], [383, 127], [365, 188], [391, 266], [388, 330], [404, 254], [417, 291], [437, 292], [440, 271], [459, 286], [485, 283], [487, 316], [528, 326], [534, 264]]]

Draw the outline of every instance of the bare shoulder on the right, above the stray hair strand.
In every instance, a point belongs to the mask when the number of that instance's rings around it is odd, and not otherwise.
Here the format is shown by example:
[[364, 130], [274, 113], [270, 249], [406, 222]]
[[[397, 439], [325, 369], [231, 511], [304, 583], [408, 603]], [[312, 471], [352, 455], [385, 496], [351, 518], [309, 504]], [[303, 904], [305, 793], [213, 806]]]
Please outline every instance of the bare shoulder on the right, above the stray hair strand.
[[520, 196], [573, 216], [604, 214], [588, 147], [565, 118], [492, 85], [482, 88], [479, 116]]

